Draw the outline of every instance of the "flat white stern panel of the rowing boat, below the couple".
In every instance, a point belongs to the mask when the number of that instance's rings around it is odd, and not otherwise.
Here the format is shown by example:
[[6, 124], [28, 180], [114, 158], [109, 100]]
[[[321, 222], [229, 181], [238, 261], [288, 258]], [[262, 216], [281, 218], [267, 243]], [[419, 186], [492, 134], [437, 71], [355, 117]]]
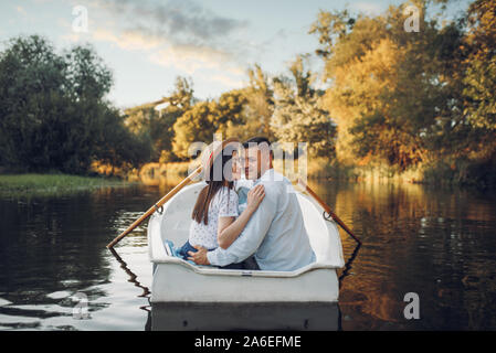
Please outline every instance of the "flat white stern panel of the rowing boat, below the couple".
[[[188, 264], [189, 265], [189, 264]], [[192, 266], [191, 266], [192, 267]], [[152, 302], [331, 302], [339, 284], [334, 268], [289, 272], [211, 270], [198, 272], [183, 264], [156, 264]], [[221, 272], [219, 272], [221, 271]]]

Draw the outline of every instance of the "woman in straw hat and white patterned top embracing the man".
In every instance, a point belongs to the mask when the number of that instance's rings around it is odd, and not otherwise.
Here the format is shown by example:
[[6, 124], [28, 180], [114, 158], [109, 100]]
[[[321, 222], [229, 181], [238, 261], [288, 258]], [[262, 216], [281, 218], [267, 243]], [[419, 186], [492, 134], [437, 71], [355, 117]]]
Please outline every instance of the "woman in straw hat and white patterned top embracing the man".
[[197, 252], [200, 245], [209, 250], [228, 248], [241, 234], [253, 213], [265, 196], [264, 188], [256, 185], [247, 194], [246, 207], [239, 215], [239, 197], [234, 181], [240, 178], [236, 139], [228, 139], [209, 156], [203, 163], [207, 186], [198, 195], [191, 215], [189, 237], [178, 249], [178, 255], [188, 258], [188, 252]]

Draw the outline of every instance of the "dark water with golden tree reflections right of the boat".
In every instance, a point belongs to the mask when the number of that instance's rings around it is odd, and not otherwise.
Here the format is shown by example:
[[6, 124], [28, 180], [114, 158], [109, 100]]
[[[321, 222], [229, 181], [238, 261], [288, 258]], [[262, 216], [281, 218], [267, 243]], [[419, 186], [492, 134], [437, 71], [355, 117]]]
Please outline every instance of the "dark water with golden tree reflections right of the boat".
[[[345, 330], [496, 328], [494, 195], [413, 184], [312, 186], [363, 240], [352, 271], [344, 269]], [[352, 254], [353, 242], [341, 238]], [[402, 314], [410, 291], [421, 299], [418, 321]]]

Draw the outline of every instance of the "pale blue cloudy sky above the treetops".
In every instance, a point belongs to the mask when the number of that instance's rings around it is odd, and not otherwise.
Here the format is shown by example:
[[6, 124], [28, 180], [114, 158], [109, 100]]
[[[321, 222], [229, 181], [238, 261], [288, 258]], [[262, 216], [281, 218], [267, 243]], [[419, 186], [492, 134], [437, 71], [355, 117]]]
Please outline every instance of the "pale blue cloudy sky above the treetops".
[[[241, 88], [255, 63], [287, 74], [296, 55], [314, 53], [308, 34], [319, 10], [380, 14], [401, 0], [2, 0], [0, 50], [17, 35], [42, 34], [59, 51], [91, 43], [112, 69], [108, 99], [119, 108], [158, 100], [177, 76], [198, 98]], [[448, 14], [468, 0], [452, 0]], [[84, 14], [87, 14], [85, 26]], [[83, 31], [82, 31], [83, 30]], [[310, 55], [318, 69], [320, 61]]]

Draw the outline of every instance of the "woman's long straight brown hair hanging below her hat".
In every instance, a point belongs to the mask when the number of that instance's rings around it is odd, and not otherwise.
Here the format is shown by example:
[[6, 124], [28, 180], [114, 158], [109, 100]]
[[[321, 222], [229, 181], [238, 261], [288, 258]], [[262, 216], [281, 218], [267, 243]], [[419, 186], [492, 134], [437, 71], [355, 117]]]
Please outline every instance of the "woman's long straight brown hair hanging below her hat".
[[[232, 154], [224, 156], [221, 153], [213, 164], [222, 161], [222, 171], [224, 171], [224, 165], [232, 159]], [[191, 214], [191, 217], [197, 221], [198, 223], [203, 222], [205, 225], [209, 224], [209, 207], [210, 203], [215, 196], [215, 194], [219, 192], [219, 190], [222, 189], [222, 186], [228, 186], [229, 189], [233, 188], [233, 182], [225, 179], [224, 173], [222, 172], [222, 180], [213, 180], [213, 170], [214, 168], [210, 169], [210, 179], [207, 180], [207, 186], [204, 186], [200, 194], [198, 195], [197, 203], [194, 204], [193, 213]], [[228, 170], [229, 174], [231, 174], [231, 170]], [[228, 194], [229, 197], [229, 194]]]

